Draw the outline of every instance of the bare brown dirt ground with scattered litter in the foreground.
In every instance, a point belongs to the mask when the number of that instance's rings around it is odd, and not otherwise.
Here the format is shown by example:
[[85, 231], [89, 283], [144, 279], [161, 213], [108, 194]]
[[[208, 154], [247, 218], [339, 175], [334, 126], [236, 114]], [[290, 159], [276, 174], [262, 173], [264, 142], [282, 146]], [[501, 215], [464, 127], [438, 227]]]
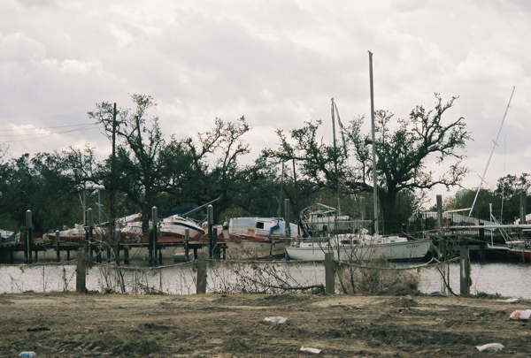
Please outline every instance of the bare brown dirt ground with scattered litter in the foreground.
[[[509, 321], [524, 308], [531, 302], [430, 296], [2, 294], [0, 357], [312, 356], [301, 347], [326, 357], [528, 357], [531, 324]], [[475, 348], [495, 342], [504, 350]]]

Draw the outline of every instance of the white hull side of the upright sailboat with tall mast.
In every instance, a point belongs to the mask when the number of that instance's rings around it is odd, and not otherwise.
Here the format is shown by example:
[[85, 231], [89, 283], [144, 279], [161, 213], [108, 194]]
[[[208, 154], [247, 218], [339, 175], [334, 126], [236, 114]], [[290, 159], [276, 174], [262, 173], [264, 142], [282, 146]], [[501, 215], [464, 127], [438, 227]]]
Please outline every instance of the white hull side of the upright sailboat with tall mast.
[[[347, 246], [331, 246], [314, 243], [310, 247], [287, 247], [286, 252], [292, 260], [320, 261], [325, 259], [325, 253], [334, 252], [335, 259], [370, 261], [374, 258], [385, 257], [389, 261], [419, 261], [426, 255], [431, 246], [431, 240], [414, 240], [381, 244], [359, 244]], [[338, 257], [339, 256], [339, 257]]]

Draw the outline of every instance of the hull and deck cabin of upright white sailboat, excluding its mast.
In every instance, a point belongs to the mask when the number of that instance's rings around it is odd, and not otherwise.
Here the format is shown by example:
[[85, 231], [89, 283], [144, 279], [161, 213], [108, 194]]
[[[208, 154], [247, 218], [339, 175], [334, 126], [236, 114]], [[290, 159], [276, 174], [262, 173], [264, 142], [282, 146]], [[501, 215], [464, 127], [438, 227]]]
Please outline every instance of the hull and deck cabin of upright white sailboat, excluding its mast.
[[333, 252], [336, 260], [370, 261], [383, 257], [388, 261], [420, 261], [428, 253], [430, 239], [407, 240], [401, 236], [371, 236], [366, 229], [356, 233], [311, 238], [286, 247], [292, 260], [319, 261]]

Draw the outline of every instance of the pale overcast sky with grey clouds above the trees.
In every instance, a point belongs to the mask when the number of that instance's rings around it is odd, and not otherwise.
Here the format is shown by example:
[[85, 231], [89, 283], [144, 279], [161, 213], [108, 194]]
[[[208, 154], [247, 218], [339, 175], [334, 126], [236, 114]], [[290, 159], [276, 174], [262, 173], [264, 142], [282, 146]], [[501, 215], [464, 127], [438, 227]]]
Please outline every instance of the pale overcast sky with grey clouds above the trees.
[[[375, 108], [407, 118], [459, 96], [446, 120], [466, 119], [473, 141], [465, 187], [477, 187], [502, 124], [487, 187], [531, 172], [531, 2], [0, 0], [0, 135], [9, 156], [111, 146], [87, 111], [132, 108], [152, 95], [166, 139], [242, 115], [253, 149], [276, 129], [342, 122]], [[366, 124], [367, 131], [370, 124]], [[432, 167], [436, 171], [441, 171]], [[448, 195], [442, 188], [435, 194]]]

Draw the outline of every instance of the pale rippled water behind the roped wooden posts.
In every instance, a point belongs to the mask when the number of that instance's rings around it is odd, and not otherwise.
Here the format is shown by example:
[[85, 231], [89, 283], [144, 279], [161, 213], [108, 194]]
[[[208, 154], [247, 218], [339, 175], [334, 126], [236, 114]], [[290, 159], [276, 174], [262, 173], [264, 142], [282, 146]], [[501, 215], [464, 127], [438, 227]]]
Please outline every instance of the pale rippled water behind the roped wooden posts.
[[[404, 267], [404, 265], [399, 265]], [[459, 293], [459, 264], [450, 267], [450, 287]], [[423, 293], [442, 291], [441, 274], [435, 267], [413, 270], [419, 274], [419, 290]], [[499, 293], [506, 297], [531, 299], [531, 265], [528, 263], [472, 263], [471, 293]], [[210, 265], [208, 292], [260, 291], [256, 278], [267, 278], [292, 286], [312, 286], [325, 283], [322, 263], [227, 263]], [[108, 266], [93, 266], [88, 271], [87, 289], [96, 292], [124, 293], [196, 293], [194, 264], [186, 263], [166, 268], [124, 268], [120, 271]], [[4, 265], [0, 266], [0, 293], [75, 291], [73, 265]]]

